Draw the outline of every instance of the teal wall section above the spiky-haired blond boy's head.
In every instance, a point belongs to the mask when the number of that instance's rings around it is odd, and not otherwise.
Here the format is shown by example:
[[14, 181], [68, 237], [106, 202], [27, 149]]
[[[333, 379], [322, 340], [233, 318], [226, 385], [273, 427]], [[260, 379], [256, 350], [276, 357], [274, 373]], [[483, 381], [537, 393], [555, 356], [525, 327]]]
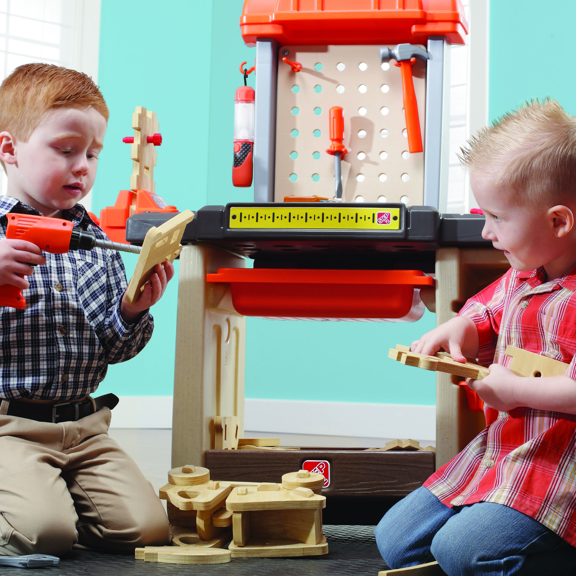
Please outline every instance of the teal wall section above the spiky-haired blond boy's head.
[[575, 20], [574, 0], [490, 3], [491, 120], [530, 98], [545, 96], [576, 114]]

